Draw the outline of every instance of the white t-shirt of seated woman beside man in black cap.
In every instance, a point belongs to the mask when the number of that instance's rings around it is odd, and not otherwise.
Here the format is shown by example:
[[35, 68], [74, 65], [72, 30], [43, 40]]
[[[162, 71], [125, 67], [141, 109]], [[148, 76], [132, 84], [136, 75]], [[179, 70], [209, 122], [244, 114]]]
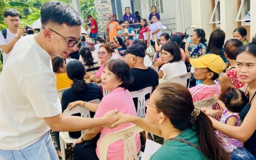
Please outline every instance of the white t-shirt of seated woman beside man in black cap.
[[[162, 79], [164, 81], [170, 81], [170, 79], [175, 76], [180, 76], [181, 74], [187, 73], [186, 65], [182, 60], [179, 62], [166, 63], [160, 68], [160, 70], [163, 71]], [[181, 81], [178, 83], [186, 86], [187, 79], [181, 79]]]

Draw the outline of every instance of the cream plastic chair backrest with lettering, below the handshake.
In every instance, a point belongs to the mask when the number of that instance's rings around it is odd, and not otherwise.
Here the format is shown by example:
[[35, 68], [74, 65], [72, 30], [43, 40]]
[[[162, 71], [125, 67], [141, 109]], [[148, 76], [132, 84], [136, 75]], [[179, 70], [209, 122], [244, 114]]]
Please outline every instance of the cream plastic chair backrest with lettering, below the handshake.
[[124, 145], [124, 158], [123, 159], [138, 159], [136, 134], [142, 132], [143, 129], [134, 125], [126, 129], [117, 130], [110, 134], [105, 135], [99, 142], [99, 156], [101, 160], [107, 159], [107, 150], [111, 143], [123, 140]]

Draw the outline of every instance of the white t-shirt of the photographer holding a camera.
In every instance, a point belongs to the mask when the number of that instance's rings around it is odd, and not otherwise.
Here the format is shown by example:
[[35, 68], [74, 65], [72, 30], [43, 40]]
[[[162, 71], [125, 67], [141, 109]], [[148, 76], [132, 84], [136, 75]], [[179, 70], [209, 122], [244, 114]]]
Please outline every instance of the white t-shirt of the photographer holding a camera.
[[[7, 44], [7, 43], [9, 43], [10, 41], [12, 41], [12, 39], [14, 39], [15, 36], [16, 36], [16, 34], [11, 33], [11, 32], [9, 31], [9, 29], [7, 28], [6, 39], [4, 39], [4, 36], [2, 35], [2, 32], [0, 31], [0, 49], [1, 49], [1, 52], [2, 52], [1, 46], [2, 46], [3, 44]], [[10, 55], [10, 52], [9, 52], [9, 54], [6, 54], [6, 53], [4, 53], [4, 52], [2, 52], [2, 53], [3, 53], [2, 58], [3, 58], [3, 60], [4, 60], [3, 65], [5, 65], [5, 63], [6, 63], [6, 61], [7, 61], [7, 58], [8, 58], [9, 55]]]

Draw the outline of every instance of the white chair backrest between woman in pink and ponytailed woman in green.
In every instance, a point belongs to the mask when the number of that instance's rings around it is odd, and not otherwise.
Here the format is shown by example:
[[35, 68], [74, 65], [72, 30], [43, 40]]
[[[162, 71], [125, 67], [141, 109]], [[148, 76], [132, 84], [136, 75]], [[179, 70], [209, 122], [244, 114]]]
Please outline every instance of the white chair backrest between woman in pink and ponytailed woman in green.
[[144, 89], [130, 92], [131, 97], [133, 97], [133, 101], [134, 101], [134, 98], [138, 98], [138, 103], [134, 104], [134, 105], [135, 105], [135, 107], [137, 106], [137, 108], [136, 108], [137, 116], [139, 116], [141, 118], [144, 118], [144, 116], [146, 114], [146, 111], [145, 111], [145, 102], [147, 100], [146, 95], [149, 94], [149, 97], [150, 97], [152, 89], [153, 89], [153, 87], [150, 86], [150, 87], [146, 87]]

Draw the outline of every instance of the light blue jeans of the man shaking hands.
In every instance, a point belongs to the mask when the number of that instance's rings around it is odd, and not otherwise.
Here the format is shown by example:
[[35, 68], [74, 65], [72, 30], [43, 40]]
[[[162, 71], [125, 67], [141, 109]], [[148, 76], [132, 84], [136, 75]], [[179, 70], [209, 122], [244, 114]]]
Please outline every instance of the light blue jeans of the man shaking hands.
[[52, 138], [46, 132], [39, 140], [22, 150], [1, 150], [0, 159], [56, 159], [59, 160]]

